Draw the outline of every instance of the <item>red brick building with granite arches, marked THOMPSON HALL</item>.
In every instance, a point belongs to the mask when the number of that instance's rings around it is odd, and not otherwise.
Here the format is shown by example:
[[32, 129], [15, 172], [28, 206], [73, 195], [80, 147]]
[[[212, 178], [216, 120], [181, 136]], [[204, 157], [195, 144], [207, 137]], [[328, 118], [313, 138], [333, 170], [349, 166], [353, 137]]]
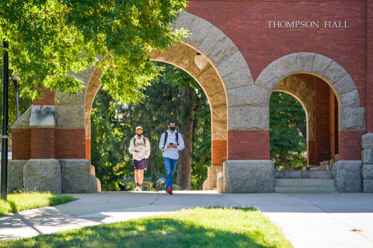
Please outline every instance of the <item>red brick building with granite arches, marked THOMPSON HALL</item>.
[[[151, 56], [186, 70], [209, 99], [212, 166], [205, 189], [275, 191], [268, 105], [273, 91], [283, 91], [305, 107], [308, 164], [339, 160], [332, 174], [339, 192], [373, 191], [371, 10], [369, 0], [188, 2], [173, 26], [190, 36]], [[197, 52], [208, 61], [202, 69], [194, 63]], [[30, 159], [90, 160], [90, 108], [100, 71], [76, 76], [86, 85], [83, 94], [57, 101], [61, 94], [47, 92], [14, 124], [13, 160], [24, 166]], [[248, 178], [263, 187], [252, 188]]]

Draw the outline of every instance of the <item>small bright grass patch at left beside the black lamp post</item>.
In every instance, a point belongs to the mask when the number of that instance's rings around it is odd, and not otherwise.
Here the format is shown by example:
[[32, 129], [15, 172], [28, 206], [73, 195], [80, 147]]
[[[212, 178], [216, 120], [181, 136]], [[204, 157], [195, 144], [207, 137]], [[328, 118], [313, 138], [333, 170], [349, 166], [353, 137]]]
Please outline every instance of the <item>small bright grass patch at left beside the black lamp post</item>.
[[72, 196], [39, 192], [8, 194], [6, 198], [7, 200], [0, 199], [0, 216], [38, 207], [56, 206], [76, 199]]

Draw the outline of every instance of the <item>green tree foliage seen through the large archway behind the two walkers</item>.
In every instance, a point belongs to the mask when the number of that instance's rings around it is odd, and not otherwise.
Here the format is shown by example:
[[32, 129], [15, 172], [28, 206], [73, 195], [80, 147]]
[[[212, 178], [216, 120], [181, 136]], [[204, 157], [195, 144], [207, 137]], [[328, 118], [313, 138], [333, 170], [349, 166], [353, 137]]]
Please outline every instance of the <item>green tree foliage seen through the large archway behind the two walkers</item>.
[[[167, 121], [173, 119], [176, 127], [189, 132], [192, 137], [190, 154], [191, 174], [188, 189], [201, 190], [207, 178], [207, 167], [211, 165], [211, 115], [206, 96], [195, 80], [185, 71], [163, 63], [160, 75], [152, 80], [152, 85], [141, 92], [146, 96], [143, 103], [124, 104], [100, 89], [91, 112], [91, 149], [92, 164], [96, 176], [101, 180], [103, 190], [119, 190], [118, 180], [133, 173], [132, 155], [128, 153], [135, 127], [142, 126], [144, 136], [151, 144], [151, 154], [147, 159], [146, 176], [160, 172], [165, 174], [162, 152], [158, 149], [159, 140], [167, 130]], [[184, 91], [190, 88], [186, 94]], [[193, 94], [193, 101], [191, 95]], [[192, 118], [188, 116], [193, 113]], [[189, 118], [190, 120], [187, 120]], [[192, 122], [192, 130], [184, 127], [186, 121]], [[187, 160], [187, 159], [184, 159]], [[179, 166], [179, 165], [178, 165]], [[177, 182], [178, 173], [175, 173]]]

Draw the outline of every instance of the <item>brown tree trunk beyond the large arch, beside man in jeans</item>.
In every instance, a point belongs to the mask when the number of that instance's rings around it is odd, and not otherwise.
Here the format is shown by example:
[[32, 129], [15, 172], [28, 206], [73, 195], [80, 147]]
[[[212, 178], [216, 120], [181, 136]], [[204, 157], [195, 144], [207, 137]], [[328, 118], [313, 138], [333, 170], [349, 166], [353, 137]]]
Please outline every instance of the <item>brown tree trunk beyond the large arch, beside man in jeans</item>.
[[179, 151], [177, 184], [183, 190], [190, 189], [191, 152], [193, 148], [194, 90], [188, 85], [182, 92], [182, 113], [180, 133], [183, 135], [185, 148]]

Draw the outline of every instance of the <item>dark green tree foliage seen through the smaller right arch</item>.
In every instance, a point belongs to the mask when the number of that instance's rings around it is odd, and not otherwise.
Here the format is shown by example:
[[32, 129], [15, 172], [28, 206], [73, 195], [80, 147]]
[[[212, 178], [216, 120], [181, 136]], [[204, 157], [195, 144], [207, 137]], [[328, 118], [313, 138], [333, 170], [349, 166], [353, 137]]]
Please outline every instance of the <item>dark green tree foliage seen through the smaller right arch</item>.
[[292, 96], [273, 92], [269, 102], [270, 156], [276, 169], [299, 170], [307, 165], [306, 114]]

